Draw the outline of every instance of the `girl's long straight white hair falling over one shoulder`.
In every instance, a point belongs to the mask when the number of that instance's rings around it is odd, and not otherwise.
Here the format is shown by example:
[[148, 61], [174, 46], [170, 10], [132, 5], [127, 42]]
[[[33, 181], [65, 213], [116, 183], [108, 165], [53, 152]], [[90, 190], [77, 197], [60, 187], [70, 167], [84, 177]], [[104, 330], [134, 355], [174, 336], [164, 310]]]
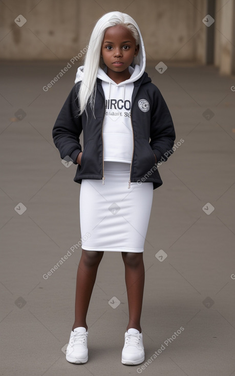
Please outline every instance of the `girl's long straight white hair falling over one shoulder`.
[[[101, 46], [105, 31], [116, 25], [127, 27], [136, 40], [136, 45], [140, 44], [139, 28], [135, 20], [126, 13], [109, 12], [98, 19], [89, 42], [89, 49], [86, 53], [83, 67], [83, 77], [78, 92], [79, 115], [86, 111], [87, 105], [90, 103], [94, 114], [94, 102], [96, 95], [96, 77], [98, 68], [104, 67], [101, 55]], [[138, 55], [134, 57], [133, 64], [139, 64]]]

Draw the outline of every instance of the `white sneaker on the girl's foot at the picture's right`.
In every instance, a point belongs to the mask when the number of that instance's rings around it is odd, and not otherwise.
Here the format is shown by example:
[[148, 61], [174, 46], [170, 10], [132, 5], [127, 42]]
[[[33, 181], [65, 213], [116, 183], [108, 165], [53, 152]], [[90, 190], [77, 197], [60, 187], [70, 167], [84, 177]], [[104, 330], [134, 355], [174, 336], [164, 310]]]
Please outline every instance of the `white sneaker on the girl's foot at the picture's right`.
[[136, 365], [144, 361], [143, 337], [139, 330], [131, 328], [125, 332], [125, 343], [122, 349], [122, 364]]

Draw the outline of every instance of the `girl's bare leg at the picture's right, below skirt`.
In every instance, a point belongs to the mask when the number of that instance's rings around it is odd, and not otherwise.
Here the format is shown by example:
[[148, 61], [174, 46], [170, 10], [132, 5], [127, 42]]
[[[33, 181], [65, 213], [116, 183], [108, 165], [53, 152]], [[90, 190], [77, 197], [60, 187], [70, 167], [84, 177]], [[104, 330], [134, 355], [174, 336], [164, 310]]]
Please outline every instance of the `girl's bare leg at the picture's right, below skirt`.
[[129, 323], [126, 330], [135, 328], [141, 333], [140, 317], [144, 290], [143, 253], [122, 252], [125, 265], [125, 283], [129, 306]]

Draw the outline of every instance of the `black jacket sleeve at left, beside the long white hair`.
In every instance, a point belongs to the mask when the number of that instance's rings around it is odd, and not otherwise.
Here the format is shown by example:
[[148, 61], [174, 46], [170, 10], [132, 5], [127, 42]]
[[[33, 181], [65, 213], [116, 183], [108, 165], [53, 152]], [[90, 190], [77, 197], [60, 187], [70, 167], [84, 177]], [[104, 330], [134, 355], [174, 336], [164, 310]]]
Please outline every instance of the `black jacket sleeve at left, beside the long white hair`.
[[60, 157], [70, 157], [77, 164], [82, 151], [79, 136], [82, 132], [81, 116], [78, 116], [77, 86], [74, 85], [55, 121], [52, 137]]

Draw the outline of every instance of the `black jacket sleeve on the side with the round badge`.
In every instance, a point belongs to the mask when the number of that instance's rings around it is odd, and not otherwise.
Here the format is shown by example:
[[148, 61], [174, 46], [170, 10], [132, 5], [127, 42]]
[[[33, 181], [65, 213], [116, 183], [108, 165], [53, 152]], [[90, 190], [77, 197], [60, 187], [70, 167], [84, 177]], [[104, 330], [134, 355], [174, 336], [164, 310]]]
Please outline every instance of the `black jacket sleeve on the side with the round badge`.
[[154, 105], [151, 115], [151, 129], [149, 142], [157, 162], [166, 161], [173, 154], [174, 141], [176, 139], [175, 128], [166, 102], [156, 87], [154, 92]]

